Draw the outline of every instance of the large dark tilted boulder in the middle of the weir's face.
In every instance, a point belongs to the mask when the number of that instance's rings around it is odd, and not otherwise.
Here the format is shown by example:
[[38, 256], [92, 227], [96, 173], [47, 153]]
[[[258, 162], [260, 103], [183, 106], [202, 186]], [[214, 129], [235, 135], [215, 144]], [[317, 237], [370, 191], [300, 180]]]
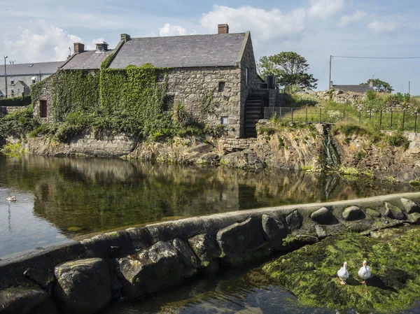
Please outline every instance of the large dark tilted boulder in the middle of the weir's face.
[[241, 266], [269, 254], [262, 236], [261, 221], [249, 217], [218, 231], [216, 240], [221, 247], [223, 261], [230, 266]]

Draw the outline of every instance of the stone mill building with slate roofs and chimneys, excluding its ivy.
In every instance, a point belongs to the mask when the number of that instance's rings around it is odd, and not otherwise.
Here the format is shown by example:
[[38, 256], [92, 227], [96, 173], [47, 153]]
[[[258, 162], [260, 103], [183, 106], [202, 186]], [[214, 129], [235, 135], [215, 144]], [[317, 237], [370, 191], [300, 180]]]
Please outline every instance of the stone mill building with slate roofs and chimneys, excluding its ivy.
[[[224, 124], [231, 137], [255, 136], [255, 123], [263, 117], [268, 99], [273, 101], [257, 74], [250, 32], [230, 34], [228, 24], [219, 24], [218, 34], [208, 35], [131, 38], [121, 34], [115, 50], [101, 43], [96, 51], [85, 51], [83, 44], [75, 43], [74, 54], [60, 69], [99, 69], [109, 55], [110, 69], [146, 63], [169, 68], [167, 93], [174, 101], [181, 101], [205, 123]], [[47, 85], [39, 104], [34, 104], [34, 115], [45, 120], [51, 119]], [[209, 110], [203, 112], [206, 101]]]

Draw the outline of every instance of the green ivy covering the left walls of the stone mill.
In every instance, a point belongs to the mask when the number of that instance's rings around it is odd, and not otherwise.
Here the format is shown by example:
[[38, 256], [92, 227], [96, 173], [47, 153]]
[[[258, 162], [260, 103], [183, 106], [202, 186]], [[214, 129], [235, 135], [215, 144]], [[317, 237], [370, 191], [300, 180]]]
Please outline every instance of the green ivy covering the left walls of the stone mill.
[[[106, 57], [99, 70], [60, 70], [36, 85], [34, 101], [39, 100], [45, 85], [50, 86], [54, 120], [54, 125], [38, 128], [37, 134], [69, 141], [87, 129], [93, 129], [97, 136], [111, 130], [137, 138], [173, 136], [183, 133], [182, 129], [202, 132], [203, 126], [186, 117], [186, 110], [168, 106], [168, 69], [152, 64], [110, 69], [112, 57]], [[174, 115], [174, 110], [178, 114]], [[31, 136], [37, 134], [34, 131]]]

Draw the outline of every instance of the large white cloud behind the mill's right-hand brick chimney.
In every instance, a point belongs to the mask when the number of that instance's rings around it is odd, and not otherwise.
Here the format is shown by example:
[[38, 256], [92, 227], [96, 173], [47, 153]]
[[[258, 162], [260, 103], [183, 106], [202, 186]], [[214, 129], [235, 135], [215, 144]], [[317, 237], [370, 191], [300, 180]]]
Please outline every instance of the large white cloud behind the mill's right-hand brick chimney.
[[279, 9], [264, 10], [251, 6], [229, 8], [214, 6], [201, 19], [202, 27], [211, 33], [217, 32], [217, 25], [228, 23], [231, 32], [250, 30], [254, 38], [268, 41], [273, 38], [295, 38], [300, 36], [305, 27], [305, 10], [297, 9], [282, 13]]

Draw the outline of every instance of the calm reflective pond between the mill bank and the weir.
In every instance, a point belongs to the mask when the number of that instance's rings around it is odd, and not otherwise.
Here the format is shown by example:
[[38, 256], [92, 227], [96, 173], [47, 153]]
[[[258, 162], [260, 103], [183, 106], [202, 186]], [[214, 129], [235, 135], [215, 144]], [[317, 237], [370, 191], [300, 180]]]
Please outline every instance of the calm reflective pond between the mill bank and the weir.
[[[0, 258], [92, 232], [178, 217], [414, 190], [317, 173], [0, 157]], [[6, 201], [12, 195], [15, 203]]]

